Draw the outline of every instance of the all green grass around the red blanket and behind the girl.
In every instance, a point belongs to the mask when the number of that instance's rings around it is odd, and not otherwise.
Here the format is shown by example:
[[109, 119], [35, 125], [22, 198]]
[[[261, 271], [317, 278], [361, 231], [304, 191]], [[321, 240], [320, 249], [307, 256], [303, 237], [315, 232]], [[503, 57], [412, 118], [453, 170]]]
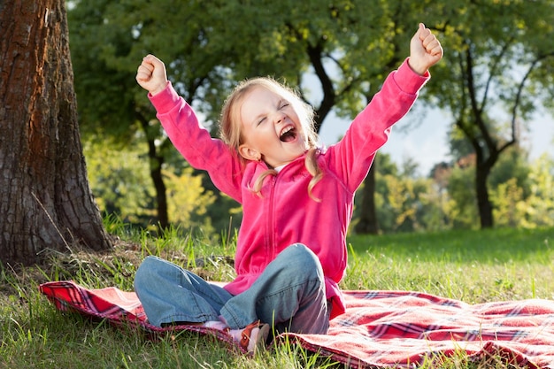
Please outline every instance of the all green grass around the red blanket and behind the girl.
[[[249, 358], [211, 337], [182, 332], [150, 340], [143, 334], [57, 311], [38, 285], [73, 279], [89, 288], [130, 290], [144, 256], [159, 255], [206, 279], [228, 281], [229, 234], [192, 236], [172, 229], [154, 239], [146, 232], [107, 225], [118, 234], [113, 252], [52, 254], [48, 265], [0, 270], [0, 368], [341, 368], [296, 345]], [[554, 298], [554, 229], [453, 231], [437, 234], [351, 236], [347, 289], [417, 290], [467, 303], [530, 297]], [[208, 258], [210, 257], [210, 258]], [[433, 367], [426, 364], [424, 367]], [[504, 368], [494, 358], [467, 363], [460, 352], [447, 368]], [[510, 366], [513, 368], [513, 366]]]

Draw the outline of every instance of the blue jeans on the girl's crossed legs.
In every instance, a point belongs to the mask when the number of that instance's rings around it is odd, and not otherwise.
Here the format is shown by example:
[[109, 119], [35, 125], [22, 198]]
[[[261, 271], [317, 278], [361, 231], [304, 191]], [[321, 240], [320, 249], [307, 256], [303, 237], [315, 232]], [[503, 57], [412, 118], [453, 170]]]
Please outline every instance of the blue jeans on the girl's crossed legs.
[[281, 251], [250, 288], [233, 296], [179, 265], [145, 258], [135, 291], [150, 324], [200, 323], [221, 315], [231, 329], [261, 320], [276, 333], [326, 334], [329, 309], [319, 259], [303, 244]]

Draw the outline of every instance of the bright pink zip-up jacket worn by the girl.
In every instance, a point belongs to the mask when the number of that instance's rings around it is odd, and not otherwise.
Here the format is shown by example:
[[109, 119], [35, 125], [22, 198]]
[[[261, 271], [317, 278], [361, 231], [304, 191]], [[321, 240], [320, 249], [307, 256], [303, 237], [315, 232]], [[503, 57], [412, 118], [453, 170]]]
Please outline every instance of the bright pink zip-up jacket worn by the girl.
[[250, 188], [264, 162], [241, 165], [227, 146], [213, 139], [195, 112], [171, 83], [150, 101], [158, 111], [165, 132], [177, 150], [196, 169], [206, 170], [220, 191], [242, 204], [235, 281], [225, 287], [237, 295], [249, 288], [273, 258], [290, 244], [300, 242], [319, 257], [326, 276], [327, 298], [332, 301], [331, 318], [344, 312], [338, 283], [347, 262], [346, 234], [352, 217], [354, 193], [364, 181], [375, 151], [387, 142], [390, 127], [410, 110], [419, 88], [429, 75], [412, 72], [407, 60], [389, 74], [381, 92], [353, 120], [342, 140], [323, 151], [318, 163], [323, 178], [308, 194], [312, 175], [304, 156], [265, 180], [261, 195]]

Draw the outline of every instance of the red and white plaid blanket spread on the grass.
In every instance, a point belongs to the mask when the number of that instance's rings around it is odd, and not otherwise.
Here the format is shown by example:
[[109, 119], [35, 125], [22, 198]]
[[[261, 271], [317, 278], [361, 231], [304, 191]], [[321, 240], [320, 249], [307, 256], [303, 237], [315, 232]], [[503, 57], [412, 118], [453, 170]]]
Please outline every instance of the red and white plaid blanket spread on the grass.
[[[134, 292], [88, 289], [73, 281], [48, 282], [41, 292], [59, 310], [73, 309], [150, 333], [187, 329], [213, 334], [232, 345], [224, 332], [206, 327], [149, 325]], [[355, 368], [412, 367], [464, 351], [493, 355], [531, 368], [554, 369], [554, 301], [465, 304], [405, 291], [345, 291], [346, 313], [333, 319], [328, 334], [281, 334], [307, 350]]]

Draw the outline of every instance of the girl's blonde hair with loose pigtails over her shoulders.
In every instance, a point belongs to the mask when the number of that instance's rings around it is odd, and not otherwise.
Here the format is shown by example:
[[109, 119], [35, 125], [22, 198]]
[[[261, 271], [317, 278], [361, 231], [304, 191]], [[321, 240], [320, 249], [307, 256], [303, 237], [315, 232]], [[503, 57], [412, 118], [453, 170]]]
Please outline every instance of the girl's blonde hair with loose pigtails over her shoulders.
[[[308, 193], [315, 201], [320, 201], [312, 196], [312, 189], [316, 183], [323, 177], [323, 172], [319, 168], [317, 158], [319, 156], [319, 148], [317, 146], [318, 135], [314, 130], [314, 115], [315, 112], [311, 105], [306, 104], [300, 96], [292, 88], [289, 88], [278, 81], [273, 80], [270, 77], [259, 77], [250, 80], [242, 81], [239, 83], [231, 95], [227, 97], [225, 104], [221, 110], [221, 117], [219, 120], [219, 135], [221, 140], [227, 143], [231, 149], [234, 150], [235, 155], [242, 161], [242, 165], [246, 164], [246, 159], [242, 158], [238, 154], [239, 146], [242, 144], [242, 124], [241, 124], [241, 111], [240, 106], [250, 90], [255, 87], [265, 88], [274, 94], [281, 96], [292, 105], [293, 109], [298, 115], [300, 124], [303, 127], [304, 133], [307, 138], [308, 152], [304, 160], [304, 165], [308, 170], [308, 173], [312, 174], [312, 181], [308, 185]], [[261, 173], [254, 182], [252, 191], [259, 195], [264, 180], [269, 175], [276, 175], [277, 172], [274, 169], [269, 169], [264, 173]]]

